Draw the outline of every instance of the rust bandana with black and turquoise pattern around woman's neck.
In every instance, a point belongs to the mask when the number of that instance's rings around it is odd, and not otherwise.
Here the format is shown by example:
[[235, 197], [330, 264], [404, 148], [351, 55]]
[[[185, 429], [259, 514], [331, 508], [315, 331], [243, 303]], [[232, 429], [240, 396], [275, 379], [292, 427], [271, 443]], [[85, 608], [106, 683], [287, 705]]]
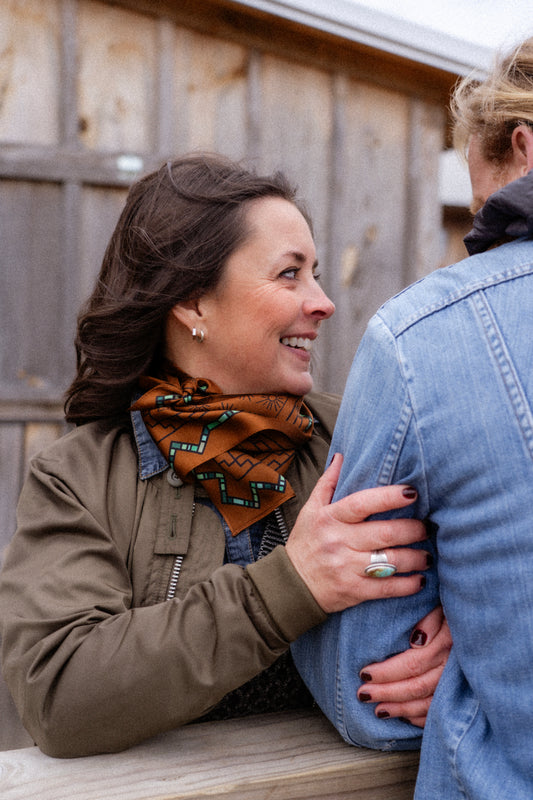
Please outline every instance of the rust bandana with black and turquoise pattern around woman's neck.
[[143, 377], [140, 410], [154, 442], [183, 481], [199, 481], [235, 536], [294, 491], [284, 478], [313, 432], [302, 398], [226, 395], [211, 381]]

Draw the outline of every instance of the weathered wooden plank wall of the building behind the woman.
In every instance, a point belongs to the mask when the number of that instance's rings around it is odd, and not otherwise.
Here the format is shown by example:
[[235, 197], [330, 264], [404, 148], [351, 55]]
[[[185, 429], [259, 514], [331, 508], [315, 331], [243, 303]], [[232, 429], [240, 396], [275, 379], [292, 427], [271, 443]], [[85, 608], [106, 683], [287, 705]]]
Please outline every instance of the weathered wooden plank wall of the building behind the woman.
[[[337, 304], [316, 384], [340, 392], [370, 315], [440, 263], [452, 82], [226, 0], [3, 0], [0, 551], [29, 456], [64, 430], [76, 313], [131, 180], [193, 149], [287, 171]], [[0, 715], [0, 747], [27, 743], [5, 697]]]

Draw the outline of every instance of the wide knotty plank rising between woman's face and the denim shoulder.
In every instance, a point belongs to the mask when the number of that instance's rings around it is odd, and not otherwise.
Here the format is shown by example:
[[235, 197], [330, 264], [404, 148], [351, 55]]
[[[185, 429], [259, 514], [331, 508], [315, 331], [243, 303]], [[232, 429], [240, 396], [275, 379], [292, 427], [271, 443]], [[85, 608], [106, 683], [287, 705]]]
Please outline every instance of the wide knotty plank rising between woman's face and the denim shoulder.
[[342, 391], [369, 318], [403, 286], [408, 134], [405, 97], [336, 76], [332, 391]]

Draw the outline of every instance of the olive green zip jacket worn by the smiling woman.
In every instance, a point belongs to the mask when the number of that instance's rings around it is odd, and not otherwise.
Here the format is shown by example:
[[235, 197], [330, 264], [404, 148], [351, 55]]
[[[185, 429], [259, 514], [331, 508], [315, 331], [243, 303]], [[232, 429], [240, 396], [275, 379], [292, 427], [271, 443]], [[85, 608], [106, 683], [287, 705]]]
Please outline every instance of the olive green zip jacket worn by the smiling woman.
[[[287, 472], [288, 530], [338, 410], [331, 395], [307, 402], [320, 424]], [[223, 565], [215, 512], [167, 476], [139, 478], [129, 424], [83, 425], [31, 463], [0, 577], [2, 669], [49, 755], [121, 750], [187, 723], [325, 619], [283, 547]]]

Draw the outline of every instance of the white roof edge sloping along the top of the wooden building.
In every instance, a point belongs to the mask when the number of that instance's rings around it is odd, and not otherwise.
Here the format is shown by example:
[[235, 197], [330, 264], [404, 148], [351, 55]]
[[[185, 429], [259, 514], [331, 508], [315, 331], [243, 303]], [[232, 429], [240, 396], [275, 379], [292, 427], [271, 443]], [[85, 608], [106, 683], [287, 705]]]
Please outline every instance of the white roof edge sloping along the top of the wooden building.
[[[454, 75], [483, 74], [494, 51], [346, 0], [234, 0]], [[327, 7], [325, 7], [327, 5]]]

